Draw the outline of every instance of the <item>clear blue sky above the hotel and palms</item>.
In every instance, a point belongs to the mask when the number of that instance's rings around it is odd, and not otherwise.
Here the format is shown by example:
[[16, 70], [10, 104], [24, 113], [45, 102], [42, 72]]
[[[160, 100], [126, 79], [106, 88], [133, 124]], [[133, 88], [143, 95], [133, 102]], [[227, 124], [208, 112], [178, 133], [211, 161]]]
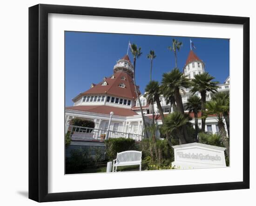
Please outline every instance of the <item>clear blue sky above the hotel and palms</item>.
[[[178, 67], [182, 71], [193, 41], [194, 52], [205, 63], [205, 70], [223, 83], [229, 76], [229, 40], [199, 37], [152, 36], [113, 33], [65, 32], [65, 104], [72, 106], [72, 99], [113, 74], [117, 60], [126, 53], [128, 42], [141, 47], [142, 55], [136, 61], [136, 83], [144, 92], [149, 81], [150, 60], [147, 54], [154, 50], [152, 79], [161, 82], [162, 73], [175, 67], [174, 53], [167, 49], [172, 39], [182, 41], [177, 53]], [[133, 61], [129, 52], [130, 60]]]

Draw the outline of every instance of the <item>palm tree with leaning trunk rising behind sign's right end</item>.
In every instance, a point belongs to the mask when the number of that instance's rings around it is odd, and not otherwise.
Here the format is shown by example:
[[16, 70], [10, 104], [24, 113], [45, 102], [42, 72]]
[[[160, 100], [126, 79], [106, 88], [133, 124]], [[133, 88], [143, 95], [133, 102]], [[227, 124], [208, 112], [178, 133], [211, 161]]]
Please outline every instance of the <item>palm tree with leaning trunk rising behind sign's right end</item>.
[[221, 98], [216, 98], [215, 100], [210, 100], [206, 103], [207, 113], [215, 114], [218, 120], [218, 126], [220, 130], [220, 136], [223, 145], [226, 147], [226, 154], [229, 157], [229, 139], [227, 138], [226, 129], [223, 122], [223, 105], [224, 101]]

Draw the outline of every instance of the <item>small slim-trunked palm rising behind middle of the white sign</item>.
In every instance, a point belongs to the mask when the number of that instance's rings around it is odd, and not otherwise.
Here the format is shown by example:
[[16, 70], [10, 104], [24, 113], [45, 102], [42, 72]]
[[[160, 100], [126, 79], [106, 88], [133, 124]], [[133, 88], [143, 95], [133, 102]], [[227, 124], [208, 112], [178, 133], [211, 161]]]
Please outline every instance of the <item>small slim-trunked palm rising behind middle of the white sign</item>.
[[195, 141], [197, 141], [197, 135], [198, 135], [198, 111], [201, 110], [201, 100], [198, 96], [193, 95], [189, 97], [186, 109], [189, 110], [189, 112], [193, 112], [195, 116]]

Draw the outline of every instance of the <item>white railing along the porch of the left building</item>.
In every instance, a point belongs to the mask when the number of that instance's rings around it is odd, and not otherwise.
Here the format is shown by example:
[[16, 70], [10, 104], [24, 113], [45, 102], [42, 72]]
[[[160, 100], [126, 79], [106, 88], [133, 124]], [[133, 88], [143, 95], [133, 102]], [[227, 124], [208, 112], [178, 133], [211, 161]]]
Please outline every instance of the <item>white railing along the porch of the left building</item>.
[[105, 140], [108, 138], [131, 138], [135, 141], [141, 141], [141, 134], [123, 133], [112, 130], [95, 129], [90, 127], [82, 126], [69, 126], [68, 131], [70, 132], [71, 140]]

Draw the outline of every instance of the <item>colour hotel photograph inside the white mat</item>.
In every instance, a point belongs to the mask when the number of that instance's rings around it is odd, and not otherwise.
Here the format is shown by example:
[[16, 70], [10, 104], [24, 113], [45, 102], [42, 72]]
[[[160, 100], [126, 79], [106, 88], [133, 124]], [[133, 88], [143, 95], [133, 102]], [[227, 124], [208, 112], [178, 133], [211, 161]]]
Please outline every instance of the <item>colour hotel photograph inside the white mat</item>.
[[65, 31], [65, 174], [229, 166], [229, 39]]

